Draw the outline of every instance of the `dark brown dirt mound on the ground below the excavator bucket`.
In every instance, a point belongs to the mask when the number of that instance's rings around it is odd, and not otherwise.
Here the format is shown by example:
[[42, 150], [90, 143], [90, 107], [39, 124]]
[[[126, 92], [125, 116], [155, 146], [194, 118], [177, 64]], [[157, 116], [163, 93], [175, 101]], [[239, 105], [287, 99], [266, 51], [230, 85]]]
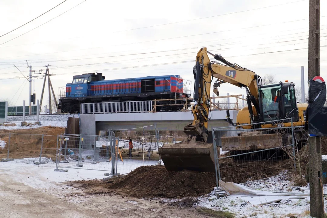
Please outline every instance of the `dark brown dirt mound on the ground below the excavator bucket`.
[[215, 173], [167, 171], [163, 166], [141, 166], [127, 176], [101, 180], [76, 181], [69, 185], [85, 188], [88, 193], [117, 191], [132, 197], [193, 197], [208, 194], [216, 186]]

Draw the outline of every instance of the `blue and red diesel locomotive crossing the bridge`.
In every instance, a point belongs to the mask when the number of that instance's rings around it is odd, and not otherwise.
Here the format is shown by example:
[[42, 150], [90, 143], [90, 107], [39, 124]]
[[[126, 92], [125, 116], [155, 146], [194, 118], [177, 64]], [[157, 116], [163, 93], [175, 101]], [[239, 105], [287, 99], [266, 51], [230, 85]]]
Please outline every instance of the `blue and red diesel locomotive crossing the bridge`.
[[[161, 105], [156, 107], [156, 111], [177, 111], [183, 108], [185, 98], [190, 97], [190, 90], [185, 87], [180, 75], [114, 80], [105, 80], [102, 73], [75, 75], [73, 81], [66, 84], [66, 92], [59, 99], [58, 109], [64, 113], [78, 113], [82, 103], [156, 99], [156, 105]], [[182, 100], [160, 101], [160, 99]]]

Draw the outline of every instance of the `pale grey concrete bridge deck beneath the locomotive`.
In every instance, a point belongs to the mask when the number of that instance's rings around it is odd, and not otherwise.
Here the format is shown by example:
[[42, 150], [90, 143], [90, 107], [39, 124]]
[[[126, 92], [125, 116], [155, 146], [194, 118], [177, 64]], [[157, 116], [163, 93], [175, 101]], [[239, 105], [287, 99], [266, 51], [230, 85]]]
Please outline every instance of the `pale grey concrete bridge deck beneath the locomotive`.
[[[230, 118], [236, 122], [238, 110], [230, 110]], [[211, 113], [208, 129], [230, 126], [227, 123], [226, 110], [214, 110]], [[209, 113], [210, 117], [210, 113]], [[156, 124], [157, 130], [183, 130], [193, 122], [190, 111], [156, 112], [156, 113], [107, 113], [80, 114], [80, 134], [97, 135], [100, 130], [130, 129]], [[148, 127], [147, 130], [154, 130]]]

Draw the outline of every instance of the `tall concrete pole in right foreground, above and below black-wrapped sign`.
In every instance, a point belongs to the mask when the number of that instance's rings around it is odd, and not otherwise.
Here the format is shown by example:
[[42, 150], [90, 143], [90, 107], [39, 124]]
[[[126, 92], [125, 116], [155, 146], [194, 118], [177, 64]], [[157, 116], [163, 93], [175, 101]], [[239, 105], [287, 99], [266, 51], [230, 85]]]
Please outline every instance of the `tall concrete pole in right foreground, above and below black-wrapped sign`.
[[[320, 0], [309, 0], [308, 79], [320, 75]], [[324, 199], [322, 190], [321, 139], [309, 137], [310, 215], [322, 217]]]

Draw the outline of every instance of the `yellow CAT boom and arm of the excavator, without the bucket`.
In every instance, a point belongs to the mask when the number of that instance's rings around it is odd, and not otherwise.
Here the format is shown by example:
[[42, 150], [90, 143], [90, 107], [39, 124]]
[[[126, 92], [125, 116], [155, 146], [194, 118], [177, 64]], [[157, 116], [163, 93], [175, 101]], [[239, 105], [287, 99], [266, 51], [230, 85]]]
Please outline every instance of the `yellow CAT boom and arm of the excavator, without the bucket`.
[[[221, 63], [210, 61], [208, 54]], [[247, 90], [247, 103], [251, 119], [254, 121], [259, 111], [259, 91], [258, 82], [261, 83], [260, 77], [253, 71], [242, 68], [237, 64], [232, 64], [220, 55], [214, 55], [207, 51], [207, 48], [201, 48], [196, 57], [196, 65], [193, 74], [195, 77], [194, 85], [194, 106], [192, 114], [194, 115], [193, 123], [185, 126], [186, 135], [197, 137], [197, 141], [207, 142], [208, 140], [208, 120], [210, 112], [210, 89], [213, 78], [217, 78], [214, 84], [214, 92], [218, 96], [217, 87], [222, 83], [230, 83], [238, 87], [245, 87]], [[255, 110], [252, 110], [251, 103]], [[209, 139], [211, 140], [211, 139]]]

